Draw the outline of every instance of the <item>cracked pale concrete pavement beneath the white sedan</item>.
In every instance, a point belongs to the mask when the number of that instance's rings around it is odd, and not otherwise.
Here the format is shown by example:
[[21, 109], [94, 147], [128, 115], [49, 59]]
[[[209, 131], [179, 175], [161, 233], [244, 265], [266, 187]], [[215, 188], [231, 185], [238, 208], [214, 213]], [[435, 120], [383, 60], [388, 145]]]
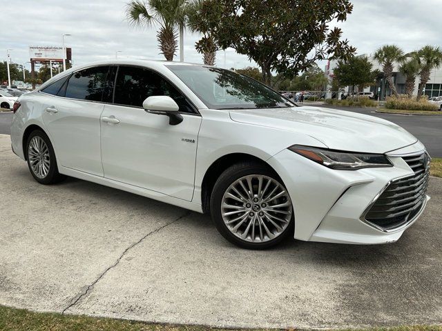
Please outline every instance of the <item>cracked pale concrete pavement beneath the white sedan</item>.
[[224, 327], [442, 321], [442, 179], [389, 245], [249, 251], [209, 217], [77, 179], [39, 185], [0, 135], [0, 304]]

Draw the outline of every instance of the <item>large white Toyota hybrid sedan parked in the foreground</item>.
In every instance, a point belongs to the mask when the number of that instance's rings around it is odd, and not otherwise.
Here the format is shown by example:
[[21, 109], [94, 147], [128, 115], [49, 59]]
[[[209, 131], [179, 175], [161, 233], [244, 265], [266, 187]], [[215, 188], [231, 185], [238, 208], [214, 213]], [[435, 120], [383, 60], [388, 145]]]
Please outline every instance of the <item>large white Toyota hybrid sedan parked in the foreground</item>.
[[67, 175], [207, 212], [244, 248], [288, 235], [392, 243], [430, 199], [430, 157], [403, 128], [298, 108], [211, 66], [93, 63], [23, 94], [14, 112], [12, 150], [39, 183]]

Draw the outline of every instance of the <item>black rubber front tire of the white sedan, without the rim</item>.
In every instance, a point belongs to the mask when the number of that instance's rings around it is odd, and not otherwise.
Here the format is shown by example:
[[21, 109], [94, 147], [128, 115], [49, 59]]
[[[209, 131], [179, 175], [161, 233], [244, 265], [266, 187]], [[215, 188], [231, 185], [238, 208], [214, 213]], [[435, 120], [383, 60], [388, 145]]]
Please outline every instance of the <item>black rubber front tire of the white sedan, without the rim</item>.
[[[264, 175], [265, 177], [270, 177], [274, 181], [278, 181], [278, 183], [285, 189], [284, 183], [278, 174], [276, 174], [271, 168], [266, 166], [265, 164], [260, 164], [257, 162], [242, 162], [237, 163], [235, 165], [231, 165], [231, 167], [224, 170], [218, 180], [215, 182], [213, 186], [213, 191], [211, 194], [210, 208], [211, 208], [211, 217], [213, 222], [215, 223], [216, 228], [222, 234], [222, 237], [230, 241], [231, 243], [238, 245], [241, 248], [247, 248], [249, 250], [263, 250], [266, 248], [271, 248], [274, 245], [277, 245], [282, 240], [284, 240], [287, 235], [294, 233], [294, 214], [291, 214], [291, 218], [289, 218], [289, 223], [287, 228], [278, 234], [278, 237], [270, 239], [268, 241], [263, 242], [250, 242], [244, 239], [240, 239], [233, 234], [229, 228], [227, 228], [226, 223], [224, 223], [224, 219], [222, 218], [222, 199], [226, 190], [228, 190], [229, 186], [241, 179], [244, 176], [248, 175]], [[293, 210], [291, 203], [290, 208]]]

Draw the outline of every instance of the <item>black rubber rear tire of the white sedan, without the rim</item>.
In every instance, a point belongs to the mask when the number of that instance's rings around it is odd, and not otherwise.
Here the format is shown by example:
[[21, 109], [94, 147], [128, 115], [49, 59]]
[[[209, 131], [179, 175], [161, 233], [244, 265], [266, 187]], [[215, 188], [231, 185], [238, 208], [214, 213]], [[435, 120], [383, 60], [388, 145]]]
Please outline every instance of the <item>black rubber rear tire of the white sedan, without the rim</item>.
[[[46, 146], [48, 147], [49, 151], [49, 160], [50, 160], [49, 170], [46, 176], [43, 178], [38, 177], [37, 174], [35, 174], [35, 171], [32, 170], [32, 165], [30, 163], [29, 145], [30, 142], [32, 141], [32, 138], [34, 137], [41, 138], [44, 141], [44, 143], [46, 143]], [[34, 179], [39, 183], [44, 185], [50, 185], [50, 184], [59, 183], [60, 181], [66, 179], [66, 176], [64, 174], [60, 174], [58, 172], [57, 159], [55, 158], [54, 148], [52, 147], [52, 143], [50, 143], [50, 139], [45, 132], [41, 130], [34, 130], [30, 133], [28, 140], [26, 141], [26, 159], [28, 160], [28, 167], [30, 173], [32, 174], [32, 177], [34, 177]]]

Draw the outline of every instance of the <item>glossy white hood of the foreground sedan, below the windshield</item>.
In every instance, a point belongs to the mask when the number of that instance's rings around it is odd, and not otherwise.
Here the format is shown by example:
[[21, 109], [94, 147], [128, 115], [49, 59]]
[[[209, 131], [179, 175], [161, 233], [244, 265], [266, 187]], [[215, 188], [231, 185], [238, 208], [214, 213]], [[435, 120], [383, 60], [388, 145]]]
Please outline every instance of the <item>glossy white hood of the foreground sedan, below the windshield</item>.
[[229, 112], [233, 121], [307, 134], [334, 150], [385, 153], [417, 141], [390, 121], [344, 110], [304, 106]]

